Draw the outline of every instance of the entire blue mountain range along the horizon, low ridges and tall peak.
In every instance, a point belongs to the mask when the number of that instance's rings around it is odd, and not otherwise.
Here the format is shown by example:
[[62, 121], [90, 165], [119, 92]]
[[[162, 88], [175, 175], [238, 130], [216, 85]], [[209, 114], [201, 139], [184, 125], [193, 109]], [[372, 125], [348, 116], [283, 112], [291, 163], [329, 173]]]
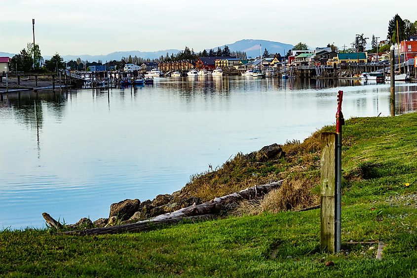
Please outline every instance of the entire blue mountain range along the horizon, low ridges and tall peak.
[[[282, 43], [278, 41], [270, 41], [270, 40], [238, 40], [234, 43], [230, 44], [224, 44], [220, 46], [213, 47], [214, 51], [217, 50], [217, 47], [224, 48], [225, 45], [227, 45], [230, 49], [230, 51], [245, 51], [247, 57], [256, 57], [259, 56], [261, 53], [260, 45], [262, 44], [262, 51], [265, 50], [265, 48], [268, 50], [270, 54], [274, 53], [280, 53], [281, 55], [285, 54], [285, 51], [288, 49], [293, 48], [292, 44], [288, 43]], [[206, 49], [209, 50], [210, 48]], [[88, 60], [89, 62], [98, 61], [101, 60], [103, 62], [105, 61], [111, 61], [111, 60], [120, 60], [122, 57], [129, 57], [131, 55], [132, 57], [138, 56], [142, 57], [144, 59], [155, 59], [159, 58], [160, 56], [165, 56], [166, 53], [171, 55], [171, 53], [178, 53], [181, 50], [179, 49], [166, 49], [166, 50], [159, 50], [159, 51], [139, 51], [139, 50], [132, 50], [132, 51], [117, 51], [112, 52], [107, 55], [62, 55], [61, 57], [64, 59], [64, 61], [70, 61], [70, 60], [76, 60], [76, 58], [81, 58], [81, 60]], [[198, 50], [196, 50], [197, 52]], [[13, 57], [14, 54], [7, 53], [7, 52], [0, 52], [0, 56], [8, 56]], [[45, 60], [48, 60], [51, 58], [51, 56], [45, 55], [43, 56]]]

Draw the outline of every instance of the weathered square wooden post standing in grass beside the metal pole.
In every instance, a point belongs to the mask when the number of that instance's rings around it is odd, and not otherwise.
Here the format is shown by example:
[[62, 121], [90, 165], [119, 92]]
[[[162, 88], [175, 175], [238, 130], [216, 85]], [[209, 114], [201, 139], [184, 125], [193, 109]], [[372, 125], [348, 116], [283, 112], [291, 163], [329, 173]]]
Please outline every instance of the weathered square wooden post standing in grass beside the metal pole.
[[335, 253], [336, 140], [335, 132], [321, 134], [320, 247], [330, 253]]

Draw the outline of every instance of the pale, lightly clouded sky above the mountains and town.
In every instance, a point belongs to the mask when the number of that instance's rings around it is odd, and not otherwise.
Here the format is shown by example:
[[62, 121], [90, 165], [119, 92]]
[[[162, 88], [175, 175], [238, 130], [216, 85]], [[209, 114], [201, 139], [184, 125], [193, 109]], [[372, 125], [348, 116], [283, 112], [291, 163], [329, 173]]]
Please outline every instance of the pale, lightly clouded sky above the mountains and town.
[[[195, 51], [242, 39], [310, 48], [349, 46], [356, 34], [385, 39], [398, 13], [417, 20], [417, 1], [388, 0], [0, 0], [0, 52], [17, 53], [35, 40], [42, 55], [115, 51]], [[370, 40], [368, 41], [370, 43]]]

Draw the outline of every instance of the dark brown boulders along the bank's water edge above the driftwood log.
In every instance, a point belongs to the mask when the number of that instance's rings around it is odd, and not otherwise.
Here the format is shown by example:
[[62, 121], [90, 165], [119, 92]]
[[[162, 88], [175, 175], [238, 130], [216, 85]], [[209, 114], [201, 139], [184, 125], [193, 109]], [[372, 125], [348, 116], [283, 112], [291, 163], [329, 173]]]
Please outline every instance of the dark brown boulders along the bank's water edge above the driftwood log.
[[[281, 146], [275, 143], [263, 147], [260, 151], [244, 155], [241, 159], [251, 163], [259, 163], [280, 159], [284, 156], [285, 152], [282, 150]], [[135, 223], [137, 221], [151, 219], [161, 214], [208, 201], [194, 197], [193, 192], [188, 190], [187, 185], [172, 194], [157, 195], [152, 200], [148, 199], [140, 201], [139, 199], [125, 199], [113, 203], [110, 205], [108, 218], [99, 218], [95, 221], [91, 221], [88, 218], [81, 218], [76, 224], [66, 226], [68, 228], [88, 228]]]

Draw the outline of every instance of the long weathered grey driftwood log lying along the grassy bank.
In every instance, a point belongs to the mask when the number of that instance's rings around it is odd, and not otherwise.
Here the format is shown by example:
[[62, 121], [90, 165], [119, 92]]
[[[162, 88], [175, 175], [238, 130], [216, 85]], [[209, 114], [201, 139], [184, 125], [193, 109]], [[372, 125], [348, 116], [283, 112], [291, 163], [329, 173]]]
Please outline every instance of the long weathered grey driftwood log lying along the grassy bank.
[[209, 218], [211, 215], [219, 213], [222, 210], [227, 209], [227, 206], [239, 202], [244, 199], [253, 199], [268, 193], [270, 190], [279, 188], [283, 180], [273, 182], [270, 184], [258, 185], [250, 187], [239, 192], [229, 194], [223, 197], [212, 199], [208, 202], [191, 205], [185, 208], [181, 208], [174, 212], [158, 215], [152, 219], [139, 221], [132, 224], [125, 224], [119, 226], [105, 227], [105, 228], [93, 228], [86, 230], [77, 230], [64, 232], [67, 235], [103, 235], [103, 234], [116, 234], [123, 232], [142, 232], [148, 231], [158, 225], [171, 225], [178, 223], [184, 219], [200, 219]]

